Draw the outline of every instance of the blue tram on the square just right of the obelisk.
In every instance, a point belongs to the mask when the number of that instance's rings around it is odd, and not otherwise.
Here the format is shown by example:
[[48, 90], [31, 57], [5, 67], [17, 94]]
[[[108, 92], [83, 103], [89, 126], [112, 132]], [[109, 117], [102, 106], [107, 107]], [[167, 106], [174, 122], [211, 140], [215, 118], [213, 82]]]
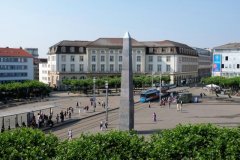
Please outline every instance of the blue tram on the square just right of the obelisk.
[[140, 102], [148, 102], [148, 101], [152, 101], [155, 99], [159, 99], [159, 94], [160, 91], [157, 89], [149, 89], [146, 91], [143, 91], [140, 95]]

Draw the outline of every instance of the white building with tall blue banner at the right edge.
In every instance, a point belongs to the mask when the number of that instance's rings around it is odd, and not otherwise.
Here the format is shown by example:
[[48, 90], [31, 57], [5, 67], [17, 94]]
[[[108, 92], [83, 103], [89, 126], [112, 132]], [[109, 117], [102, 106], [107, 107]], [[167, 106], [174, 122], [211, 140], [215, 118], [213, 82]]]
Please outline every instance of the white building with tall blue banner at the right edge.
[[240, 76], [240, 43], [229, 43], [213, 49], [213, 75]]

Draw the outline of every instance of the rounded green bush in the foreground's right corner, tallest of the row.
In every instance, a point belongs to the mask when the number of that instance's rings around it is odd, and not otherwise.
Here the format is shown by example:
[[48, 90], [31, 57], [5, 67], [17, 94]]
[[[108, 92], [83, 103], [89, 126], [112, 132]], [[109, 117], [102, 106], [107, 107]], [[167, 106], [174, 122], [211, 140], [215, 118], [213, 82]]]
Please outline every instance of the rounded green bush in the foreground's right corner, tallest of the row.
[[240, 130], [210, 124], [179, 125], [151, 137], [157, 159], [239, 159]]

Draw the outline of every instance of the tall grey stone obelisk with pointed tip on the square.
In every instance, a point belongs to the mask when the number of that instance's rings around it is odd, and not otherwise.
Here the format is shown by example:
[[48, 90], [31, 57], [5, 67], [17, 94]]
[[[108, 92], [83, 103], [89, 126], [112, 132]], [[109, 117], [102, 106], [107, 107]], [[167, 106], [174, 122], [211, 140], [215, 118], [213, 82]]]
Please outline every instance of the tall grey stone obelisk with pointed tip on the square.
[[119, 113], [119, 129], [132, 130], [134, 128], [133, 102], [133, 73], [132, 73], [132, 44], [128, 32], [123, 37], [122, 77]]

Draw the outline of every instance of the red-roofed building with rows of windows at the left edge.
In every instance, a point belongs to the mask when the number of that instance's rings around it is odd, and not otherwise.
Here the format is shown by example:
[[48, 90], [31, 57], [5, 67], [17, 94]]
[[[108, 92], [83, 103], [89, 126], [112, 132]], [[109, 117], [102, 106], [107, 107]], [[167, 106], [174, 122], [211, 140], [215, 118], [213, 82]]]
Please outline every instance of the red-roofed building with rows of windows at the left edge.
[[33, 56], [22, 48], [0, 48], [0, 83], [33, 80]]

